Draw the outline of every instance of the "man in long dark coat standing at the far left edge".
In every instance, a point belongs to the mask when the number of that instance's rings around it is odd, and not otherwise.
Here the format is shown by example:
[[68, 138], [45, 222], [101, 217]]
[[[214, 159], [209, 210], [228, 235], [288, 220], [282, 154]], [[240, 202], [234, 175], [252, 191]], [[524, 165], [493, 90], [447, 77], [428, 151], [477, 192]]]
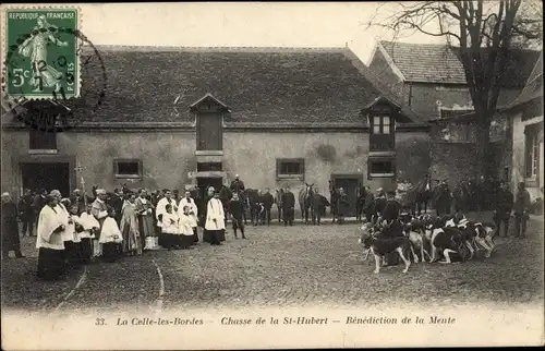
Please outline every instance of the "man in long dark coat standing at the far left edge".
[[2, 194], [2, 259], [9, 257], [10, 251], [15, 252], [15, 257], [24, 257], [21, 253], [21, 241], [19, 239], [17, 205], [11, 199], [9, 193]]

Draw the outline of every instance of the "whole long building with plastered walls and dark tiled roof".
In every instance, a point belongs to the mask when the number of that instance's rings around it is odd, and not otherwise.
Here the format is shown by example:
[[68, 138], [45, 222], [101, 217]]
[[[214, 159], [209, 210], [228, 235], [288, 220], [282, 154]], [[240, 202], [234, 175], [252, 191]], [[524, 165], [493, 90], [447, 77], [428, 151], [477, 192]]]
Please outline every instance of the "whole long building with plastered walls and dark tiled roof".
[[[2, 124], [2, 186], [106, 189], [228, 184], [272, 191], [304, 183], [349, 195], [427, 172], [427, 124], [378, 88], [349, 48], [99, 47], [82, 66], [73, 129]], [[106, 69], [101, 72], [101, 64]], [[81, 102], [81, 101], [80, 101]], [[8, 113], [9, 114], [9, 113]], [[13, 114], [13, 113], [12, 113]], [[76, 171], [76, 166], [81, 168]]]

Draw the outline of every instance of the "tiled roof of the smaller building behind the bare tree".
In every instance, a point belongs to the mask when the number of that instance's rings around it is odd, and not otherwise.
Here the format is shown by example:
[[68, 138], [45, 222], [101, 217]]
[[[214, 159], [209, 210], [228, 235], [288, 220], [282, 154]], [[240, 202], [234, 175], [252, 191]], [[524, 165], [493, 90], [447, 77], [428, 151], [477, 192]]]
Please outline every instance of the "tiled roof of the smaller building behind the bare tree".
[[[465, 84], [459, 48], [437, 44], [380, 41], [407, 82]], [[511, 50], [502, 87], [522, 87], [538, 58], [533, 50]]]

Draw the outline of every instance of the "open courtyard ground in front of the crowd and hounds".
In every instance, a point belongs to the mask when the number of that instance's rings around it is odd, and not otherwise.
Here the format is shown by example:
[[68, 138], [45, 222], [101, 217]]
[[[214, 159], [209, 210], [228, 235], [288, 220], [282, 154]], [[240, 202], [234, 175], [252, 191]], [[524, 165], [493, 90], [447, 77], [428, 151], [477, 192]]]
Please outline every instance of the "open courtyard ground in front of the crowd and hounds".
[[32, 311], [62, 303], [62, 311], [96, 313], [129, 305], [132, 310], [211, 304], [364, 306], [370, 302], [391, 305], [391, 301], [508, 305], [543, 300], [543, 221], [537, 218], [530, 222], [528, 239], [498, 239], [489, 259], [413, 264], [407, 275], [401, 274], [401, 266], [374, 275], [373, 259], [364, 262], [358, 244], [356, 228], [355, 223], [249, 226], [246, 240], [234, 239], [228, 231], [222, 246], [199, 244], [187, 251], [157, 251], [114, 264], [89, 265], [56, 283], [35, 278], [36, 250], [33, 239], [25, 237], [27, 257], [9, 259], [2, 266], [2, 303]]

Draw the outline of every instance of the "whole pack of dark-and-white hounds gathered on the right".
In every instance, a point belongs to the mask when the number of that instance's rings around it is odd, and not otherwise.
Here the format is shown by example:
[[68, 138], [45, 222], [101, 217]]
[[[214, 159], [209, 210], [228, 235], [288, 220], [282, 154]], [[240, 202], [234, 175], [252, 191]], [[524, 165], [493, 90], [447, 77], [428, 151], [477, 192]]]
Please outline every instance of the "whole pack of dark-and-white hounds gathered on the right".
[[426, 258], [431, 263], [450, 264], [467, 262], [479, 254], [488, 258], [496, 247], [496, 226], [493, 222], [470, 221], [461, 214], [409, 216], [400, 222], [399, 232], [387, 237], [384, 233], [392, 223], [380, 217], [364, 221], [360, 227], [359, 242], [366, 250], [364, 261], [367, 261], [370, 254], [374, 255], [375, 274], [379, 273], [380, 265], [387, 265], [386, 258], [396, 253], [404, 264], [403, 273], [407, 273], [411, 266], [411, 256], [415, 264], [427, 262]]

